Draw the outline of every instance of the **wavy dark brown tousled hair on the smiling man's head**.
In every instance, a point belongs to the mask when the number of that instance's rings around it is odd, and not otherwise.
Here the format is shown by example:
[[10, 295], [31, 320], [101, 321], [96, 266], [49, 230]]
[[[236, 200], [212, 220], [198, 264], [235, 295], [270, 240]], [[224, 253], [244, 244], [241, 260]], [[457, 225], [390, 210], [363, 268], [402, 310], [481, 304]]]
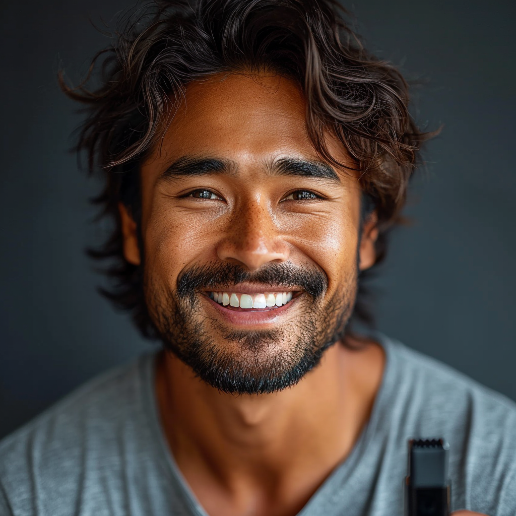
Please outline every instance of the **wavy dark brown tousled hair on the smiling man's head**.
[[[158, 0], [124, 16], [114, 43], [94, 57], [78, 87], [60, 73], [63, 91], [87, 113], [75, 150], [86, 154], [91, 173], [101, 171], [104, 189], [94, 202], [101, 218], [114, 221], [102, 246], [89, 250], [108, 263], [110, 286], [101, 292], [131, 313], [144, 336], [158, 334], [144, 302], [142, 271], [123, 256], [118, 203], [139, 221], [139, 166], [162, 136], [162, 117], [188, 83], [210, 74], [268, 70], [301, 86], [317, 153], [343, 166], [325, 146], [330, 130], [356, 163], [378, 217], [375, 266], [383, 259], [428, 134], [409, 114], [404, 77], [364, 49], [347, 19], [334, 0]], [[351, 320], [372, 324], [364, 303], [368, 273], [359, 278]]]

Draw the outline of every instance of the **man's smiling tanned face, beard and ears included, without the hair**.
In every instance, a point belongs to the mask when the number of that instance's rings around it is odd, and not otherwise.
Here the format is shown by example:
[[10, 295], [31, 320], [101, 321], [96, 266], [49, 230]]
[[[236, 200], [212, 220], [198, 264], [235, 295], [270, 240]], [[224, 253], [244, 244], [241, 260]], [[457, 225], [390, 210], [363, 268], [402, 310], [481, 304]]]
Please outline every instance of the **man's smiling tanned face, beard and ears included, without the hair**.
[[297, 84], [190, 84], [141, 183], [143, 256], [122, 209], [125, 256], [143, 264], [165, 346], [224, 392], [299, 381], [342, 337], [374, 250], [359, 242], [357, 177], [317, 156]]

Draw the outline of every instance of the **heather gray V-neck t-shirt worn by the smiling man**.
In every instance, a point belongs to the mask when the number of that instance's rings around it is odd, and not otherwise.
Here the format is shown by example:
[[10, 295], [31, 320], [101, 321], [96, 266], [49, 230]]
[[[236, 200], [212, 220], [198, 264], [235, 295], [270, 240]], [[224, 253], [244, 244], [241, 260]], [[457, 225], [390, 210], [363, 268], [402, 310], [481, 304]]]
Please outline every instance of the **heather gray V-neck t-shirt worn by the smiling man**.
[[[401, 516], [407, 440], [450, 444], [452, 508], [516, 516], [516, 405], [381, 337], [367, 426], [299, 516]], [[90, 381], [0, 443], [0, 515], [206, 516], [160, 428], [153, 356]]]

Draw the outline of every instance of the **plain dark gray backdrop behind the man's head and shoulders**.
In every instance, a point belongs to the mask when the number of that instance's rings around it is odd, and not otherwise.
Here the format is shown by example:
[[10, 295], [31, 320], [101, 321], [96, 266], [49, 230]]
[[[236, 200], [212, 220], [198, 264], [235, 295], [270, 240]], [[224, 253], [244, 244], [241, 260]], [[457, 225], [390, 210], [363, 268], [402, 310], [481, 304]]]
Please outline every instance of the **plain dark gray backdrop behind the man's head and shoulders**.
[[[149, 344], [95, 292], [83, 255], [95, 185], [67, 153], [78, 125], [59, 92], [108, 44], [119, 0], [3, 1], [0, 436]], [[444, 124], [414, 183], [412, 227], [377, 281], [379, 327], [516, 399], [513, 273], [514, 3], [364, 0], [347, 6], [368, 46], [426, 80], [414, 115]]]

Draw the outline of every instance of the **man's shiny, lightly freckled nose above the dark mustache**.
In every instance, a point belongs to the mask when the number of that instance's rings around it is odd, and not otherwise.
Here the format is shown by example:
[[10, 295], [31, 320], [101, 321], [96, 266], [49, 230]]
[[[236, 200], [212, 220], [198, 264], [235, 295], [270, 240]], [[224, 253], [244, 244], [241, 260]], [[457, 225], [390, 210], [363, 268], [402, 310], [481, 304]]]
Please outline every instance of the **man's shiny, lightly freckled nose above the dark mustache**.
[[287, 261], [288, 245], [268, 209], [259, 199], [239, 204], [224, 228], [217, 246], [218, 258], [238, 263], [251, 272], [268, 262]]

